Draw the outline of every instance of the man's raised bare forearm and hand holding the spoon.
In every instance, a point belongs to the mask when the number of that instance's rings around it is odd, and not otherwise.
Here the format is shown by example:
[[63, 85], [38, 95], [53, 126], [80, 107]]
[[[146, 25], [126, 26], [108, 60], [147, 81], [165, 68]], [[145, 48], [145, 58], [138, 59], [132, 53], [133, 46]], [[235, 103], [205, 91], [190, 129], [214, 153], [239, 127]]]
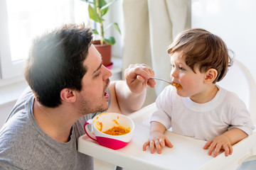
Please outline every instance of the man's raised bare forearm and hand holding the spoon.
[[108, 111], [129, 114], [138, 111], [146, 98], [146, 87], [154, 88], [154, 71], [146, 64], [131, 64], [124, 71], [126, 81], [113, 81], [109, 88], [111, 105]]

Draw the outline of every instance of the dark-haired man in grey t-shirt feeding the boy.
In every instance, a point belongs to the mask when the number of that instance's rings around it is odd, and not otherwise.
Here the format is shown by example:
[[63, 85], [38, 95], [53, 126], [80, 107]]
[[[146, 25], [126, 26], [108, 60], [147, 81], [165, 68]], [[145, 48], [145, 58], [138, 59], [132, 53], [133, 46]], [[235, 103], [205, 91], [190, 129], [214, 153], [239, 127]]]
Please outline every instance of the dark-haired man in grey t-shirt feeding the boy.
[[142, 107], [146, 86], [156, 84], [153, 70], [131, 65], [126, 82], [110, 83], [112, 72], [91, 42], [84, 25], [66, 25], [33, 42], [24, 72], [30, 87], [0, 131], [0, 169], [93, 169], [92, 157], [77, 151], [85, 121]]

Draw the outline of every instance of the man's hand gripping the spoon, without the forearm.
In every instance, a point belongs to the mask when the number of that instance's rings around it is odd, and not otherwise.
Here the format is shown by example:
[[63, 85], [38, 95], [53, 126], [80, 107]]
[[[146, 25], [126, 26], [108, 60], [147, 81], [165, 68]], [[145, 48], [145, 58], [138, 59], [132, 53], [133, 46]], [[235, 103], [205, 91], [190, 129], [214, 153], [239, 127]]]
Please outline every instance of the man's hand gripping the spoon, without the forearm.
[[124, 71], [124, 77], [127, 86], [134, 94], [141, 94], [146, 86], [154, 88], [156, 81], [150, 79], [154, 77], [154, 71], [146, 64], [131, 64], [129, 68]]

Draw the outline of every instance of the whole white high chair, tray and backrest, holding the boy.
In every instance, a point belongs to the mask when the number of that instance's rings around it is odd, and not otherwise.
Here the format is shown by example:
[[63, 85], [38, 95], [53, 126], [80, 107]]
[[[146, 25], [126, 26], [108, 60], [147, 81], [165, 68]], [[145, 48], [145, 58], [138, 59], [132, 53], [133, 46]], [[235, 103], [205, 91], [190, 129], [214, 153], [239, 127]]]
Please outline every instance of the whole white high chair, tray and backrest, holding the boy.
[[[223, 88], [234, 91], [245, 101], [252, 119], [256, 123], [256, 84], [249, 70], [238, 60], [230, 67], [226, 77], [218, 83]], [[255, 103], [255, 104], [254, 104]], [[156, 109], [156, 104], [129, 115], [135, 123], [132, 141], [122, 149], [109, 149], [83, 135], [78, 140], [78, 151], [104, 162], [109, 162], [124, 169], [238, 169], [240, 164], [256, 155], [256, 130], [244, 140], [233, 145], [233, 154], [225, 157], [222, 152], [217, 157], [208, 156], [208, 149], [203, 149], [204, 140], [177, 135], [166, 130], [165, 135], [174, 145], [164, 147], [161, 154], [142, 151], [142, 145], [149, 137], [149, 119]]]

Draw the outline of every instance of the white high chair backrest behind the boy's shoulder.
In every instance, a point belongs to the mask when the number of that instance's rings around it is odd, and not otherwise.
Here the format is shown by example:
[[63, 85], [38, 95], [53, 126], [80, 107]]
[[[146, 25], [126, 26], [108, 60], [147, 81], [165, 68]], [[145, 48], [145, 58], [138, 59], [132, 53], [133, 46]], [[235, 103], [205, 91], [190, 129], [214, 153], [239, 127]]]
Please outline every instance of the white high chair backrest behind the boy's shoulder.
[[233, 66], [229, 67], [228, 73], [217, 84], [238, 94], [256, 123], [256, 84], [249, 69], [242, 62], [234, 60]]

